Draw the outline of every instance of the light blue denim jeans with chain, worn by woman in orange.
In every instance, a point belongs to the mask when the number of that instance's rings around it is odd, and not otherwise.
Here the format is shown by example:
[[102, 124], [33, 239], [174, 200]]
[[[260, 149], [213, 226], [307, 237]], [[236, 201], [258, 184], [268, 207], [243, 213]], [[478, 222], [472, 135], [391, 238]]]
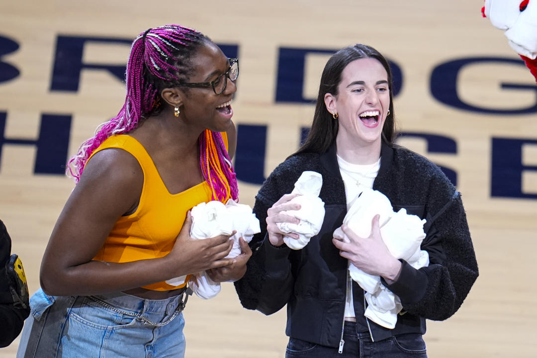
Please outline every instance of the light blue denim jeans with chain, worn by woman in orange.
[[184, 296], [49, 296], [39, 289], [17, 358], [184, 357]]

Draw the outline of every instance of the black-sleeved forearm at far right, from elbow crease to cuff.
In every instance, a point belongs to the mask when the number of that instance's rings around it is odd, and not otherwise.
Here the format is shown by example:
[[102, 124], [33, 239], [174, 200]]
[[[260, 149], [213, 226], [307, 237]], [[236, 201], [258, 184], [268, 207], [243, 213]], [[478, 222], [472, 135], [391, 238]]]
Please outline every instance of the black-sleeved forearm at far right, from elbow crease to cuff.
[[460, 198], [434, 221], [431, 230], [433, 237], [422, 245], [430, 265], [417, 270], [403, 262], [399, 279], [387, 287], [411, 314], [442, 320], [459, 309], [478, 276]]

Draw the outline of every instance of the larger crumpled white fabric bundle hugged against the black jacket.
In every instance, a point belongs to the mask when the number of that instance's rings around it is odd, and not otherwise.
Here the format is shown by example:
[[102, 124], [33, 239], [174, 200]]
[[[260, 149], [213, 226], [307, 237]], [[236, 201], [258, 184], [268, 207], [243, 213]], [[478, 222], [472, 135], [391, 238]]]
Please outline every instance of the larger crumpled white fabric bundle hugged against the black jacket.
[[[347, 211], [343, 223], [358, 236], [368, 237], [371, 233], [371, 222], [377, 214], [380, 215], [382, 240], [390, 253], [396, 259], [407, 261], [414, 268], [428, 266], [429, 253], [420, 249], [425, 238], [425, 220], [407, 214], [405, 209], [394, 213], [389, 199], [381, 192], [373, 189], [362, 192]], [[334, 237], [350, 242], [341, 228], [334, 231]], [[352, 279], [366, 291], [368, 306], [365, 316], [383, 327], [394, 328], [397, 313], [403, 309], [399, 297], [384, 287], [380, 276], [367, 274], [352, 262], [349, 264], [349, 272]]]

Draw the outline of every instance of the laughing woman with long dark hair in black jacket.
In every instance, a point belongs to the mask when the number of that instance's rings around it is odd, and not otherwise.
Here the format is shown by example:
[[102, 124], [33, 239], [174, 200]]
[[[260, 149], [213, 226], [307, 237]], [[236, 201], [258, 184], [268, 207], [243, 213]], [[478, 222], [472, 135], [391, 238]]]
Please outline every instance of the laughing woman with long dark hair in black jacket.
[[[425, 319], [452, 316], [477, 278], [460, 193], [438, 166], [393, 144], [391, 89], [390, 67], [379, 52], [364, 45], [339, 50], [325, 65], [306, 142], [256, 196], [262, 231], [250, 243], [255, 253], [235, 288], [245, 308], [266, 315], [287, 305], [287, 357], [426, 357]], [[292, 201], [296, 194], [288, 193], [303, 171], [322, 175], [325, 215], [320, 232], [291, 250], [284, 236], [299, 235], [278, 224], [300, 223], [291, 214], [300, 209]], [[417, 269], [391, 254], [379, 215], [366, 237], [342, 225], [350, 205], [371, 189], [393, 210], [426, 220], [420, 249], [428, 266]], [[339, 228], [346, 240], [336, 235]], [[365, 316], [367, 293], [351, 279], [352, 265], [379, 277], [400, 299], [393, 327]]]

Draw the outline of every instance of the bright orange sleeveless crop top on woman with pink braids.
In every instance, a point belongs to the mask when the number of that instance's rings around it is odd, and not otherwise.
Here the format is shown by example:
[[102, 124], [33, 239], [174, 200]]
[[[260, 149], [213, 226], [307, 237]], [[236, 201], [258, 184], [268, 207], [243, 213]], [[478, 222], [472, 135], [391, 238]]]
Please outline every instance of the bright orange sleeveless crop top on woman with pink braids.
[[[225, 132], [222, 132], [222, 139], [227, 149], [228, 138]], [[99, 145], [90, 158], [107, 148], [120, 148], [132, 154], [142, 167], [144, 180], [136, 211], [119, 218], [93, 260], [130, 262], [164, 257], [171, 251], [183, 227], [186, 212], [201, 202], [211, 201], [211, 187], [204, 181], [172, 195], [165, 187], [153, 159], [140, 142], [129, 135], [114, 135]], [[167, 291], [184, 287], [185, 284], [172, 286], [166, 282], [157, 282], [143, 288]]]

